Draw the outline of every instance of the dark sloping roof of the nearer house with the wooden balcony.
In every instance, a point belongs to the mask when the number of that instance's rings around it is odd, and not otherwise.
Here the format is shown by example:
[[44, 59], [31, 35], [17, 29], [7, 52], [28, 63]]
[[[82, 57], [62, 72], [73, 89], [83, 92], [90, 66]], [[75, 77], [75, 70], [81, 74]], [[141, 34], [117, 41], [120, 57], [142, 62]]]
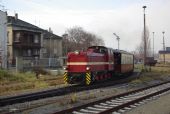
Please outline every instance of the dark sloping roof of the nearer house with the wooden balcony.
[[25, 21], [22, 21], [14, 16], [8, 16], [8, 25], [24, 27], [24, 28], [34, 29], [34, 30], [42, 30], [41, 28], [32, 25], [30, 23], [27, 23]]

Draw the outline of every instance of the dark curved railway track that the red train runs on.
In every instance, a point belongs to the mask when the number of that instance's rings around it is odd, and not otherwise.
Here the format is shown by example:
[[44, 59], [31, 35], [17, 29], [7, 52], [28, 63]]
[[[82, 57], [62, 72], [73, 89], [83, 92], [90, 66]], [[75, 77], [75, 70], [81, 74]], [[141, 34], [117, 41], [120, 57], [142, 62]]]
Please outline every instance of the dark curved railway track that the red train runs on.
[[0, 107], [22, 103], [26, 101], [38, 100], [38, 99], [47, 98], [47, 97], [62, 96], [62, 95], [66, 95], [66, 94], [73, 93], [73, 92], [80, 92], [80, 91], [85, 91], [85, 90], [90, 90], [90, 89], [113, 86], [116, 84], [126, 83], [134, 78], [137, 78], [137, 76], [136, 74], [134, 74], [134, 76], [131, 76], [128, 78], [119, 79], [115, 81], [106, 81], [103, 83], [96, 83], [90, 86], [74, 85], [74, 86], [68, 86], [68, 87], [57, 88], [57, 89], [52, 89], [52, 90], [45, 90], [45, 91], [40, 91], [40, 92], [35, 92], [35, 93], [23, 94], [23, 95], [18, 95], [18, 96], [11, 96], [7, 98], [0, 98]]

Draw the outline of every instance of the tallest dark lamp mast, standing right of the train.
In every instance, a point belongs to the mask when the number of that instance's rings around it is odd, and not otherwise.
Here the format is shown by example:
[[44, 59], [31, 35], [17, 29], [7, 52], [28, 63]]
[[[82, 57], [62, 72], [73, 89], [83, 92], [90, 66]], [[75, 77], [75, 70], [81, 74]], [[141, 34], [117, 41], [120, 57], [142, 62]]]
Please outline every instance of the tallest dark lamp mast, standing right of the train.
[[143, 11], [144, 11], [144, 67], [146, 68], [146, 25], [145, 25], [145, 8], [146, 8], [146, 6], [143, 6]]

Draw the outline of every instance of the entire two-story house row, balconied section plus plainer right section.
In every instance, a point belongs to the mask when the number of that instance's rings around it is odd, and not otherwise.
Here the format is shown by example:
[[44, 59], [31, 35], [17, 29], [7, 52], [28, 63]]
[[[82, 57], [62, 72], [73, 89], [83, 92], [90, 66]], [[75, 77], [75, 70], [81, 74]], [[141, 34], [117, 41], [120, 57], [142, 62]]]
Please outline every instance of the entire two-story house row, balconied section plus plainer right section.
[[51, 31], [18, 19], [18, 14], [8, 16], [7, 27], [9, 66], [15, 66], [16, 57], [22, 57], [30, 59], [33, 63], [42, 63], [42, 66], [46, 67], [49, 64], [48, 58], [62, 56], [62, 37]]

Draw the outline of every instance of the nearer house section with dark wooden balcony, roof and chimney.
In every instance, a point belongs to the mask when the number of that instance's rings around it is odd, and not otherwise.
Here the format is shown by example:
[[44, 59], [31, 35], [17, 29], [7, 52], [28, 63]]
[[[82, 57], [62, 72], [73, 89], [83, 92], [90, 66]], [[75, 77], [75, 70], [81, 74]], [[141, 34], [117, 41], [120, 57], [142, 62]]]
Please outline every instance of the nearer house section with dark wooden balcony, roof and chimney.
[[16, 65], [16, 57], [40, 58], [42, 30], [14, 17], [8, 16], [8, 65]]

